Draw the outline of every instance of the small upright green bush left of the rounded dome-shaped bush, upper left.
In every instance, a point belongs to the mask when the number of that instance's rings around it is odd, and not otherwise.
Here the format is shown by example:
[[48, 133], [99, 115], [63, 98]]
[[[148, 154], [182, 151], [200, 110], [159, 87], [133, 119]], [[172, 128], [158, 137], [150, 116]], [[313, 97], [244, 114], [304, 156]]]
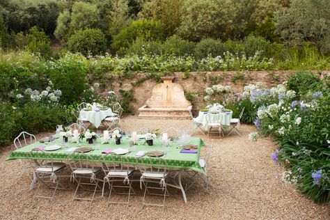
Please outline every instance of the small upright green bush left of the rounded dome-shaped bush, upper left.
[[26, 49], [31, 53], [39, 53], [41, 56], [49, 58], [52, 56], [50, 49], [50, 40], [44, 31], [39, 31], [36, 26], [29, 29], [29, 34], [26, 36]]

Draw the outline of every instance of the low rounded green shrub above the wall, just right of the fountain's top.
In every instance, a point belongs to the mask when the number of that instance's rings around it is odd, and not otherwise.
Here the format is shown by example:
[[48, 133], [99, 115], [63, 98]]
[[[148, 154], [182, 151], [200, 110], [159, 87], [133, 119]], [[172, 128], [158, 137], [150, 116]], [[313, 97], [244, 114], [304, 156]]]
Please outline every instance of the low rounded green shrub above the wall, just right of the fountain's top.
[[212, 38], [206, 38], [196, 44], [195, 57], [198, 59], [205, 58], [207, 56], [221, 56], [225, 51], [220, 40]]

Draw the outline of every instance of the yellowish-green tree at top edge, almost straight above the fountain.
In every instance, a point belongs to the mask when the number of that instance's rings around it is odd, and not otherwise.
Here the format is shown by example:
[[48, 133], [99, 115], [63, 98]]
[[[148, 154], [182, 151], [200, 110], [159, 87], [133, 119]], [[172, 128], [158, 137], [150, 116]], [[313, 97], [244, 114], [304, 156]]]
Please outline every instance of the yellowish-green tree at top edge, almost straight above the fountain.
[[139, 17], [159, 20], [164, 37], [173, 36], [181, 24], [183, 0], [148, 0], [143, 3]]

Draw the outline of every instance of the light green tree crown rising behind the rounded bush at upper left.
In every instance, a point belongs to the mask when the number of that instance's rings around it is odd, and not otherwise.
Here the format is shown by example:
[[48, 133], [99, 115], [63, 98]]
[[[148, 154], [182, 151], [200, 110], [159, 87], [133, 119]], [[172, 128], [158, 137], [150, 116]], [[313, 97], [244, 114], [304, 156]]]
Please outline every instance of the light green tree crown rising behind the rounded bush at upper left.
[[100, 27], [100, 10], [91, 3], [76, 1], [72, 6], [71, 31]]

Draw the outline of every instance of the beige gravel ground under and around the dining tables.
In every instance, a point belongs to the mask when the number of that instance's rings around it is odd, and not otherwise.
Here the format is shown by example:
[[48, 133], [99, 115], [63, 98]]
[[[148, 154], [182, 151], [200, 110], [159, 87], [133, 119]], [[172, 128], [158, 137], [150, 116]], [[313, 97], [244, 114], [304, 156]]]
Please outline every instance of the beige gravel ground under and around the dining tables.
[[[127, 131], [142, 127], [191, 129], [191, 120], [146, 120], [136, 116], [123, 118], [120, 124]], [[329, 219], [329, 205], [313, 203], [276, 178], [283, 168], [270, 158], [276, 149], [272, 140], [251, 142], [248, 134], [254, 127], [242, 125], [240, 130], [242, 137], [233, 134], [214, 139], [208, 166], [210, 194], [196, 185], [187, 191], [189, 203], [184, 204], [180, 191], [169, 188], [171, 196], [166, 198], [164, 212], [159, 207], [142, 207], [138, 184], [134, 185], [138, 195], [132, 196], [129, 208], [108, 205], [100, 194], [92, 205], [86, 201], [70, 205], [72, 183], [68, 191], [59, 190], [54, 201], [39, 199], [33, 203], [29, 178], [19, 177], [17, 160], [5, 162], [10, 154], [6, 150], [0, 153], [0, 219]], [[195, 135], [208, 144], [201, 133]]]

